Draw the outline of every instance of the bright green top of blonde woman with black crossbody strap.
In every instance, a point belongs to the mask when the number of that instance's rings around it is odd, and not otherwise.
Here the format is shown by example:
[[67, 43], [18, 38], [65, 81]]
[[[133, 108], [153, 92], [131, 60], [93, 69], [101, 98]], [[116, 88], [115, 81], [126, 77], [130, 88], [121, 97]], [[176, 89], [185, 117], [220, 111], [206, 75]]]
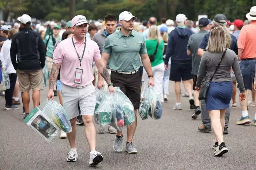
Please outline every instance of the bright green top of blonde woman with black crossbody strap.
[[[155, 48], [157, 47], [157, 39], [147, 39], [147, 54], [153, 55], [155, 52]], [[151, 67], [157, 66], [163, 62], [163, 40], [158, 44], [157, 53], [155, 54], [155, 59], [151, 62]]]

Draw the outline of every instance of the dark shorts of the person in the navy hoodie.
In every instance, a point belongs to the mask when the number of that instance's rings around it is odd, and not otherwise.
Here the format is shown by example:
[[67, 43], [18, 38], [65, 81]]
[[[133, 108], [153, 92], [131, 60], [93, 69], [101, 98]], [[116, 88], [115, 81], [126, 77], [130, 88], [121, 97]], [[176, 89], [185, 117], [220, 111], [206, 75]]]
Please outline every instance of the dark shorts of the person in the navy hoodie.
[[186, 63], [171, 63], [170, 80], [174, 82], [181, 82], [181, 79], [192, 79], [192, 62]]

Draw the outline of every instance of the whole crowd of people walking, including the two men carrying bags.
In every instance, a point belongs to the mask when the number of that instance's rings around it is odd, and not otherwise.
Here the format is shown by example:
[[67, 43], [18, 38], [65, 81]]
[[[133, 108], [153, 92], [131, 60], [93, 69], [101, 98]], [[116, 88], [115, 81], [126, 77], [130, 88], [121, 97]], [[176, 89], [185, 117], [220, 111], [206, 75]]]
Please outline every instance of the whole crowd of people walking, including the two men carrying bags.
[[[116, 152], [123, 150], [123, 133], [110, 125], [95, 128], [94, 86], [108, 87], [110, 93], [118, 86], [131, 100], [135, 121], [127, 126], [125, 145], [125, 151], [131, 154], [138, 153], [132, 140], [143, 90], [154, 86], [163, 103], [169, 100], [169, 88], [174, 88], [173, 110], [182, 110], [181, 96], [188, 97], [187, 104], [193, 110], [191, 118], [197, 119], [201, 114], [198, 130], [214, 131], [213, 155], [222, 156], [228, 151], [223, 134], [228, 134], [230, 107], [237, 107], [237, 84], [242, 116], [236, 123], [251, 123], [248, 106], [255, 107], [256, 6], [246, 18], [231, 23], [219, 13], [213, 20], [202, 17], [194, 23], [178, 14], [175, 21], [162, 18], [157, 25], [155, 17], [140, 22], [131, 12], [124, 11], [118, 19], [106, 15], [102, 23], [87, 21], [82, 15], [67, 23], [32, 23], [27, 14], [18, 17], [17, 23], [0, 21], [1, 71], [10, 80], [10, 88], [1, 91], [5, 109], [17, 110], [23, 105], [25, 119], [30, 112], [30, 90], [36, 107], [44, 88], [45, 70], [48, 71], [47, 97], [59, 96], [72, 126], [71, 133], [60, 135], [69, 140], [67, 161], [75, 162], [78, 158], [75, 139], [79, 124], [85, 126], [89, 165], [96, 166], [103, 160], [95, 150], [96, 129], [98, 133], [108, 129], [109, 133], [117, 134], [113, 144]], [[169, 86], [169, 80], [174, 87]], [[253, 123], [256, 126], [256, 113]]]

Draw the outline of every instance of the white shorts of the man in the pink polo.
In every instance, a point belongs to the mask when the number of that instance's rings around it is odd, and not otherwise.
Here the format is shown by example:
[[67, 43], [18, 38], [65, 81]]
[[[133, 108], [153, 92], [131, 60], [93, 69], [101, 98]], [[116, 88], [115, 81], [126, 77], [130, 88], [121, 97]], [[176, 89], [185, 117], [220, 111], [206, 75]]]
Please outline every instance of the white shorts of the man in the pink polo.
[[81, 115], [94, 115], [96, 97], [92, 83], [83, 88], [74, 88], [63, 84], [61, 94], [63, 96], [63, 107], [69, 120], [79, 116], [78, 104]]

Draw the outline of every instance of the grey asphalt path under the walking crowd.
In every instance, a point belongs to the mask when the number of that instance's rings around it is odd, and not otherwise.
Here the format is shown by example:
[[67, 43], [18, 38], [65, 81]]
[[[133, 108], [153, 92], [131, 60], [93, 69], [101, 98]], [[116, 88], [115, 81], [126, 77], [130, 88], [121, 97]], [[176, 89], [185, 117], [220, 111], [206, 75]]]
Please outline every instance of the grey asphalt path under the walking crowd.
[[[172, 109], [175, 103], [173, 83], [170, 83], [169, 102], [163, 104], [164, 115], [159, 120], [142, 120], [133, 143], [138, 154], [113, 152], [114, 134], [97, 134], [97, 150], [104, 160], [97, 167], [89, 167], [89, 147], [85, 141], [84, 126], [77, 126], [78, 161], [66, 161], [69, 145], [67, 139], [46, 143], [24, 122], [22, 109], [4, 110], [0, 98], [0, 169], [256, 169], [256, 127], [238, 126], [240, 106], [231, 109], [229, 134], [224, 136], [229, 152], [223, 157], [213, 157], [213, 133], [197, 130], [201, 123], [190, 118], [188, 98], [182, 98], [182, 111]], [[184, 89], [182, 90], [184, 91]], [[47, 88], [41, 92], [46, 99]], [[30, 108], [32, 110], [32, 105]], [[249, 108], [253, 119], [255, 108]], [[124, 130], [124, 141], [126, 137]], [[125, 148], [125, 144], [123, 145]]]

